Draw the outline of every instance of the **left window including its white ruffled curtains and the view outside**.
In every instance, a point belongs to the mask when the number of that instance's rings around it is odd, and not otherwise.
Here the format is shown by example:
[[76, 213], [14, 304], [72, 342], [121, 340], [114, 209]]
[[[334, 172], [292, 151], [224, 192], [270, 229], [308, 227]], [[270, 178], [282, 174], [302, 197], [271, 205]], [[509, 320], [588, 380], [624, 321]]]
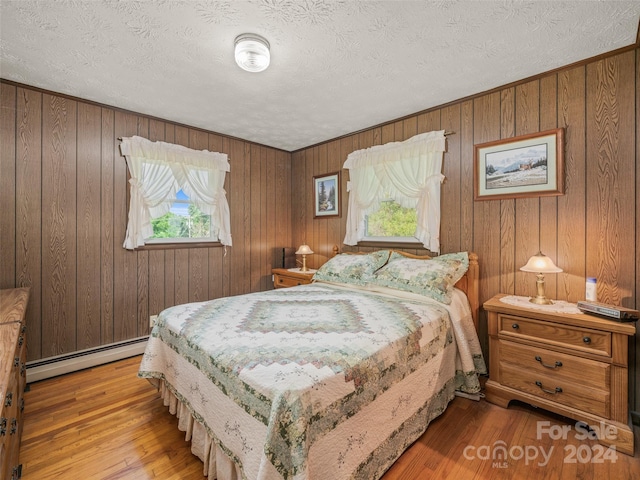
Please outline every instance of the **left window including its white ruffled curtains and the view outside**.
[[125, 248], [176, 241], [231, 245], [226, 154], [142, 137], [123, 138], [120, 149], [131, 174]]

